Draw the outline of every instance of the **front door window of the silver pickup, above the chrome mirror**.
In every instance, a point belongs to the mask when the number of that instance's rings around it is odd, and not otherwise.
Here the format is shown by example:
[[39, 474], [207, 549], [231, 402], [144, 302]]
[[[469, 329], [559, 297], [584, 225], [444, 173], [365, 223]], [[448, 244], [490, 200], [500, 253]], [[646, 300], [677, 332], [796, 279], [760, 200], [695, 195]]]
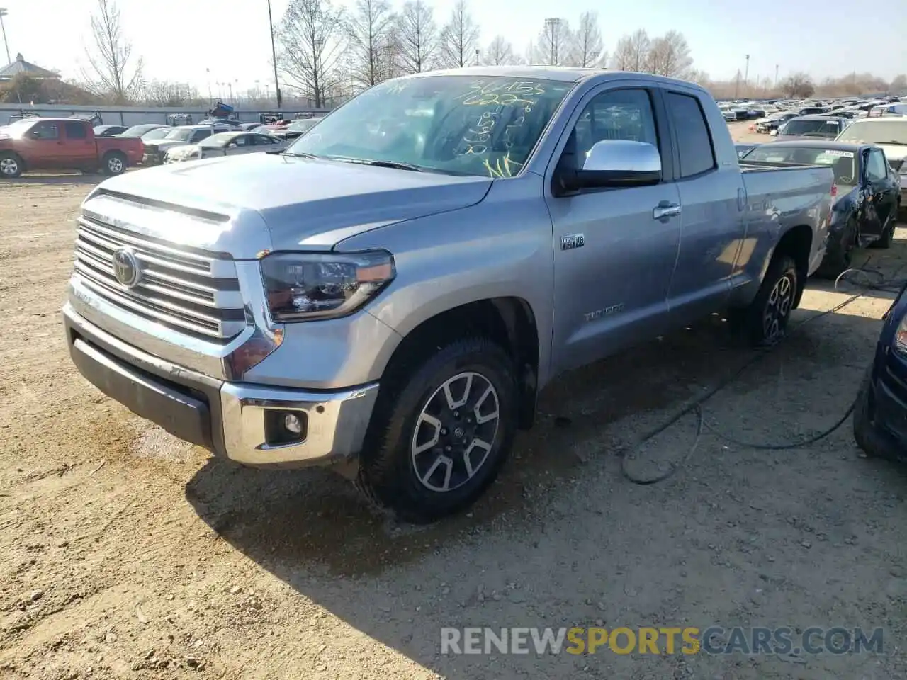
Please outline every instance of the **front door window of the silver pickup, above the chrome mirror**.
[[647, 141], [658, 146], [655, 114], [646, 90], [602, 92], [586, 104], [574, 131], [580, 159], [603, 140]]

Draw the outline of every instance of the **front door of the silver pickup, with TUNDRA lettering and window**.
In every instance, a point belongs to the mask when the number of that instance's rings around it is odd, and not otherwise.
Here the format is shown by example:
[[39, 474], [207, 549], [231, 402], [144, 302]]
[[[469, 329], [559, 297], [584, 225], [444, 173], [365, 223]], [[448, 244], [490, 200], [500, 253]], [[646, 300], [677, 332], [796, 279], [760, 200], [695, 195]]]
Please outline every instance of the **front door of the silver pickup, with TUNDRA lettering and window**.
[[647, 88], [604, 85], [574, 112], [578, 162], [597, 141], [645, 141], [661, 151], [663, 180], [546, 196], [554, 230], [555, 371], [657, 335], [666, 321], [680, 219], [659, 104], [658, 92]]

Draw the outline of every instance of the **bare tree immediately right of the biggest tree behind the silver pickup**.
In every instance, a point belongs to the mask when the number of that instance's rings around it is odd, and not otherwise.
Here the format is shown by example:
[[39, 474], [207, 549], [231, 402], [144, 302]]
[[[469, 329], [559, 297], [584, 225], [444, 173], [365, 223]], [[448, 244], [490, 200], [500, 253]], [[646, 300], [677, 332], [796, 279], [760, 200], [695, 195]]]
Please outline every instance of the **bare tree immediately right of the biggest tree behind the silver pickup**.
[[386, 0], [356, 0], [349, 19], [351, 76], [359, 87], [385, 80], [395, 16]]

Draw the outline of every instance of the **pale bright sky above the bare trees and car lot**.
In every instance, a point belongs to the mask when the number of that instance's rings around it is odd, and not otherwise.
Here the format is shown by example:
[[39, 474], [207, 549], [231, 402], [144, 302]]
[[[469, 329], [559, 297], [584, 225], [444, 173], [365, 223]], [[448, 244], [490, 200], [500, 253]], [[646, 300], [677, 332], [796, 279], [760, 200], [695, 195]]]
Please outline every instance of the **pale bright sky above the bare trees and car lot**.
[[[84, 65], [83, 44], [90, 43], [90, 15], [97, 0], [0, 0], [9, 52], [78, 78]], [[349, 5], [352, 0], [341, 4]], [[217, 83], [235, 90], [256, 80], [273, 83], [269, 66], [267, 0], [118, 0], [134, 53], [141, 54], [145, 77], [196, 85], [215, 97]], [[274, 20], [288, 0], [271, 0]], [[400, 5], [395, 3], [395, 6]], [[430, 2], [443, 21], [453, 0]], [[599, 11], [609, 51], [622, 34], [645, 28], [654, 36], [670, 29], [683, 33], [694, 66], [714, 80], [730, 80], [744, 70], [749, 78], [806, 71], [815, 78], [872, 72], [892, 79], [907, 72], [907, 1], [883, 5], [827, 3], [819, 0], [473, 0], [473, 17], [482, 28], [481, 43], [502, 34], [524, 53], [546, 16], [576, 24], [587, 9]], [[872, 10], [870, 11], [870, 7]], [[719, 9], [720, 7], [720, 9]], [[756, 9], [757, 8], [757, 9]], [[868, 14], [867, 14], [868, 13]], [[860, 26], [861, 16], [868, 24]], [[849, 20], [852, 19], [852, 20]], [[5, 53], [0, 53], [5, 61]], [[210, 69], [210, 77], [206, 73]], [[226, 93], [226, 88], [221, 86]], [[273, 89], [272, 89], [273, 92]]]

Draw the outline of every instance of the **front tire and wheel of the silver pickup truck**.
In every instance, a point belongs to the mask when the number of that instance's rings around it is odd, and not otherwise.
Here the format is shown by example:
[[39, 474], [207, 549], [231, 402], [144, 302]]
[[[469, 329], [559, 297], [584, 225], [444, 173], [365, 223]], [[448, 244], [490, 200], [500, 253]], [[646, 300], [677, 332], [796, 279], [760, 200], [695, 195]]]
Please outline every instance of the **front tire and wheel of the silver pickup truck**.
[[[501, 347], [474, 335], [447, 345], [425, 345], [434, 350], [431, 355], [414, 357], [412, 363], [397, 366], [383, 379], [356, 480], [370, 500], [414, 523], [439, 520], [472, 504], [497, 477], [512, 447], [517, 420], [515, 372]], [[466, 387], [466, 378], [449, 386], [453, 396], [463, 396], [459, 392], [462, 388], [469, 400], [454, 411], [442, 388], [460, 374], [477, 377], [469, 379], [470, 388]], [[489, 385], [493, 395], [479, 399], [479, 393]], [[497, 398], [496, 423], [489, 420], [480, 424], [474, 418], [467, 423], [467, 417], [475, 413], [482, 418], [491, 414], [485, 412], [493, 406], [488, 403], [493, 396]], [[479, 402], [477, 412], [475, 402]], [[434, 423], [427, 418], [434, 418]], [[487, 442], [492, 423], [492, 441]], [[426, 438], [425, 434], [434, 436]], [[470, 437], [473, 439], [464, 447]], [[476, 452], [481, 455], [483, 449], [473, 442], [480, 437], [491, 446], [476, 465]], [[436, 445], [429, 443], [433, 441]], [[423, 451], [416, 451], [420, 447]], [[468, 457], [463, 448], [472, 449]], [[445, 458], [450, 462], [434, 462]], [[446, 491], [444, 486], [448, 487]]]

